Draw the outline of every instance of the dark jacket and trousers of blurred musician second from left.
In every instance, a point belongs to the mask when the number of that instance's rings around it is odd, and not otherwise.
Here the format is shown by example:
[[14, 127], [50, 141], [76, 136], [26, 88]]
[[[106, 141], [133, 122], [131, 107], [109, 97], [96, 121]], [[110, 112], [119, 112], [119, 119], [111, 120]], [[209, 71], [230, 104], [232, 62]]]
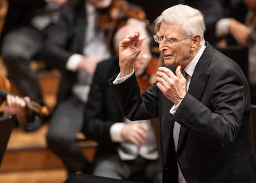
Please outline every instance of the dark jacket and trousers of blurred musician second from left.
[[79, 71], [68, 70], [66, 67], [71, 55], [83, 55], [86, 28], [85, 1], [67, 2], [61, 10], [58, 22], [49, 27], [42, 51], [43, 60], [61, 71], [58, 101], [49, 121], [46, 142], [64, 163], [68, 176], [77, 171], [89, 173], [90, 165], [76, 140], [82, 126], [84, 110], [82, 99], [72, 91], [79, 80]]

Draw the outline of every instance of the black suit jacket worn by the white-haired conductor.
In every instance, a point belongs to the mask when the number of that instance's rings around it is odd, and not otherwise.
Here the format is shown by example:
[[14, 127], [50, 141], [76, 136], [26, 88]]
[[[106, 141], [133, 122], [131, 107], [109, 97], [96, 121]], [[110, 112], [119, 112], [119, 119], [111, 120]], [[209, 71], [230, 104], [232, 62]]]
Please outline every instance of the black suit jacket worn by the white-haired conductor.
[[[210, 44], [174, 116], [169, 113], [173, 102], [156, 83], [142, 95], [134, 75], [111, 87], [130, 120], [160, 117], [163, 182], [177, 182], [177, 163], [187, 183], [256, 182], [247, 79], [233, 60]], [[177, 152], [174, 121], [181, 124]]]

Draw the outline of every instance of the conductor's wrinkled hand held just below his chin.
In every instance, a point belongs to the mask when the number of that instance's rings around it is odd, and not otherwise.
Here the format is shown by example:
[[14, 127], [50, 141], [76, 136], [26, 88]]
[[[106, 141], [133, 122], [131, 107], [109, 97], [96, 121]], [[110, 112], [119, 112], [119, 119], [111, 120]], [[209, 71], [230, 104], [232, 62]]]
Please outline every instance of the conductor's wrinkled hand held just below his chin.
[[166, 67], [158, 68], [156, 81], [156, 86], [174, 104], [179, 104], [186, 96], [186, 79], [181, 73], [181, 66], [176, 68], [176, 75]]

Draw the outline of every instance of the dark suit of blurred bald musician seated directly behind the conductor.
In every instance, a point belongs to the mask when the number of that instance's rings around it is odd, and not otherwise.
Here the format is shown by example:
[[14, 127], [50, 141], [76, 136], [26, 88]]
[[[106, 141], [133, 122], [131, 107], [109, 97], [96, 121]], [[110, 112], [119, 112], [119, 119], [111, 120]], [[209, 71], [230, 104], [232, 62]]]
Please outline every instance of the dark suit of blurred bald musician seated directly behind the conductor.
[[[87, 102], [87, 110], [85, 111], [82, 132], [89, 139], [93, 139], [98, 142], [94, 158], [94, 164], [96, 165], [95, 167], [98, 168], [96, 175], [116, 179], [132, 179], [133, 177], [135, 179], [136, 176], [134, 175], [137, 172], [134, 170], [127, 171], [127, 167], [132, 167], [127, 165], [134, 164], [141, 167], [138, 168], [139, 173], [142, 173], [143, 171], [143, 174], [147, 176], [145, 179], [149, 179], [149, 182], [161, 182], [161, 169], [159, 166], [158, 157], [143, 158], [140, 157], [139, 154], [136, 154], [136, 152], [139, 151], [139, 147], [135, 148], [135, 151], [132, 148], [126, 147], [127, 152], [125, 153], [129, 155], [132, 154], [131, 156], [134, 156], [134, 158], [131, 158], [130, 160], [123, 160], [119, 156], [117, 149], [119, 148], [120, 150], [121, 143], [124, 143], [125, 140], [122, 142], [114, 142], [111, 138], [111, 127], [116, 123], [124, 123], [125, 121], [121, 108], [119, 107], [108, 83], [108, 79], [118, 72], [119, 65], [117, 57], [113, 57], [112, 59], [106, 60], [97, 65]], [[148, 147], [150, 150], [145, 154], [152, 157], [153, 154], [156, 154], [157, 149], [155, 143], [156, 141], [152, 140], [155, 139], [155, 136], [151, 132], [152, 131], [148, 132], [148, 136], [151, 136], [149, 139], [151, 140], [147, 140], [147, 145], [150, 143], [150, 147]], [[136, 160], [140, 160], [141, 166], [139, 166], [140, 164], [138, 165], [139, 161]], [[106, 162], [110, 163], [112, 168], [106, 168], [106, 166], [104, 166], [106, 165]], [[122, 168], [118, 168], [119, 166]], [[99, 171], [99, 169], [101, 170]], [[116, 171], [115, 169], [119, 170]], [[117, 177], [116, 174], [118, 174]], [[139, 175], [142, 176], [142, 174]], [[139, 176], [137, 179], [138, 178]], [[138, 181], [137, 179], [135, 181]]]

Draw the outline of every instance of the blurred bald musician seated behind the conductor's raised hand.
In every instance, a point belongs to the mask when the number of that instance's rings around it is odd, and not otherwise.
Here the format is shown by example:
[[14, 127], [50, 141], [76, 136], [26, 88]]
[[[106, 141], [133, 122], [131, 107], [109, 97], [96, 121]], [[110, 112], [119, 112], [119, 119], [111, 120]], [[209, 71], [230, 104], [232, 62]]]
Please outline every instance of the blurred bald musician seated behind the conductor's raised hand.
[[[117, 30], [114, 44], [118, 55], [119, 42], [135, 30], [146, 37], [142, 43], [142, 52], [134, 64], [136, 76], [139, 78], [147, 70], [152, 59], [150, 38], [145, 30], [145, 23], [129, 19], [127, 25]], [[148, 181], [161, 182], [158, 151], [151, 120], [130, 123], [131, 121], [124, 118], [108, 84], [108, 78], [114, 73], [119, 73], [117, 57], [98, 63], [88, 96], [83, 133], [98, 142], [93, 174], [136, 182], [142, 182], [138, 178], [145, 174], [143, 178]], [[145, 83], [145, 86], [148, 86], [148, 83]], [[140, 85], [140, 89], [142, 87]]]

